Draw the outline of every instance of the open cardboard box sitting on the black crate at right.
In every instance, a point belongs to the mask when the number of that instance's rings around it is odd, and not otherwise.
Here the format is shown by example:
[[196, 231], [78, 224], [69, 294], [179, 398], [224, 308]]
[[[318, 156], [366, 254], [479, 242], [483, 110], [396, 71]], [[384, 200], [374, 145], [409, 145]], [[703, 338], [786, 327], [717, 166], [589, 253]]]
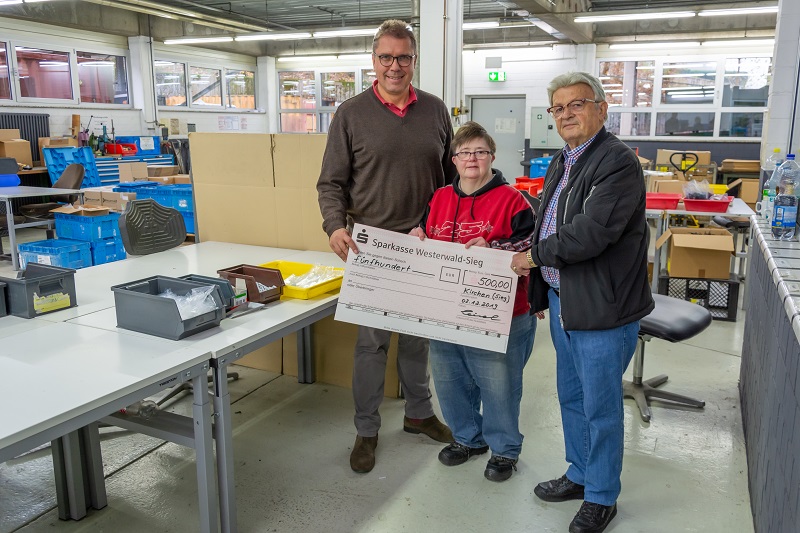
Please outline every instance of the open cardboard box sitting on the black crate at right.
[[669, 242], [667, 272], [676, 278], [728, 279], [733, 235], [721, 228], [669, 228], [656, 248]]

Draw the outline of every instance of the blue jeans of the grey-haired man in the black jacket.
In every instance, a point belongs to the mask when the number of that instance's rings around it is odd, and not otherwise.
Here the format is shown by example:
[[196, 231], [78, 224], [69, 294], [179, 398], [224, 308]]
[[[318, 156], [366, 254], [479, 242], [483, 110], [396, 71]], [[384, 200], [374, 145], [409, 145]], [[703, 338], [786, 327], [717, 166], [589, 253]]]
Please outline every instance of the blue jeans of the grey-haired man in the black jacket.
[[613, 329], [564, 331], [561, 302], [552, 289], [548, 297], [567, 478], [584, 485], [585, 501], [613, 505], [621, 489], [625, 432], [622, 374], [636, 349], [639, 321]]

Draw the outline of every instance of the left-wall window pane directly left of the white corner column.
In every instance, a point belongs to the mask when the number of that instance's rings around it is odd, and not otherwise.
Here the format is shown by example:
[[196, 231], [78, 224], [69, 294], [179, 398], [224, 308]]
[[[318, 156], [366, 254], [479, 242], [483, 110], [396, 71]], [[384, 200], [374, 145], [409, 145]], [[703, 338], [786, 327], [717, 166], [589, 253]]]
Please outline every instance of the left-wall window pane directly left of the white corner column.
[[81, 103], [129, 104], [124, 56], [77, 52]]

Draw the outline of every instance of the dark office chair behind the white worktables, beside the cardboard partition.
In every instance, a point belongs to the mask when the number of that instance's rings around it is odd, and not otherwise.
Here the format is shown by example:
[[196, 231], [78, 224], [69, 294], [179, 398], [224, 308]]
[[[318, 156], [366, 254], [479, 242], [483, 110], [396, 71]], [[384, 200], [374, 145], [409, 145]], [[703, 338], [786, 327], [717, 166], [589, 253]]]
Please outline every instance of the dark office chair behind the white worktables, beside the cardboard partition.
[[[164, 207], [152, 198], [128, 202], [125, 212], [119, 217], [122, 244], [128, 255], [148, 255], [170, 250], [186, 241], [186, 224], [177, 209]], [[229, 372], [228, 379], [239, 379], [237, 372]], [[208, 376], [208, 381], [213, 378]], [[187, 381], [165, 389], [150, 397], [159, 408], [178, 394], [192, 392], [192, 382]]]

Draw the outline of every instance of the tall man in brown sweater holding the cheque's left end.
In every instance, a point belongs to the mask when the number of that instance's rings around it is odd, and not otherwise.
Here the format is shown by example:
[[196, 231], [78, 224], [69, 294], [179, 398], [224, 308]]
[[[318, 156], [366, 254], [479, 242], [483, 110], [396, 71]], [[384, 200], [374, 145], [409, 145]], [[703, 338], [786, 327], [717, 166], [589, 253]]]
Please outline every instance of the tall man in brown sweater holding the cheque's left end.
[[[377, 80], [344, 102], [328, 131], [317, 182], [323, 229], [342, 260], [358, 253], [350, 229], [359, 222], [408, 233], [433, 191], [452, 182], [453, 129], [447, 107], [432, 94], [411, 87], [417, 42], [407, 23], [387, 20], [372, 43]], [[353, 400], [358, 432], [350, 467], [369, 472], [383, 400], [386, 352], [391, 333], [359, 326], [353, 362]], [[398, 374], [406, 400], [403, 429], [450, 443], [453, 435], [433, 412], [428, 374], [428, 341], [400, 335]]]

